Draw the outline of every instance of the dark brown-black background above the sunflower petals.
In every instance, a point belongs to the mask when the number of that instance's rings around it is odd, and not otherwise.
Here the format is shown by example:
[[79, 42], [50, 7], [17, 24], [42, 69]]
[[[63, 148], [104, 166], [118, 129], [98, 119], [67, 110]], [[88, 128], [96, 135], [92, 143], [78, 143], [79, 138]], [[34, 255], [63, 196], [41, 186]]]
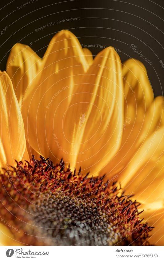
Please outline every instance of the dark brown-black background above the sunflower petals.
[[[30, 0], [21, 9], [18, 6], [27, 0], [1, 2], [0, 31], [8, 27], [0, 36], [0, 69], [5, 70], [11, 47], [21, 42], [30, 44], [39, 56], [43, 56], [52, 36], [62, 30], [71, 30], [81, 44], [95, 44], [90, 48], [96, 55], [99, 45], [112, 45], [121, 50], [121, 60], [129, 57], [144, 63], [154, 90], [154, 96], [163, 95], [164, 69], [164, 1], [163, 0], [94, 0], [94, 1], [52, 1]], [[80, 17], [79, 20], [62, 22], [35, 32], [35, 29], [50, 22], [66, 18]], [[139, 57], [130, 45], [152, 62], [152, 65]]]

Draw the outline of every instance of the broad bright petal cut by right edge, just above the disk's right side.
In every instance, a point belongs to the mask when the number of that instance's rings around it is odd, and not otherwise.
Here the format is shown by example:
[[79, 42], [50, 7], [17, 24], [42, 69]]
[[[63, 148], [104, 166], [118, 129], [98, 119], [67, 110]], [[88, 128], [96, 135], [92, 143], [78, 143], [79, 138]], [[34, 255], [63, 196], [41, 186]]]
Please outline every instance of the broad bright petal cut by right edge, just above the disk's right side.
[[126, 192], [134, 191], [135, 197], [144, 203], [164, 199], [164, 126], [157, 127], [120, 174]]

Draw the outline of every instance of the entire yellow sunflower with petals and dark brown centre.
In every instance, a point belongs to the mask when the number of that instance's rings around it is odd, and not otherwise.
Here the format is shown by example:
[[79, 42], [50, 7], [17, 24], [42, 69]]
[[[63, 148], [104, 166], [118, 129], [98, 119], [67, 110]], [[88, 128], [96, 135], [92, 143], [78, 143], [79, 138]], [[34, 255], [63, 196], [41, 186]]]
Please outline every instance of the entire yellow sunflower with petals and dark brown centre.
[[[2, 245], [162, 245], [163, 97], [113, 47], [70, 31], [1, 72]], [[144, 211], [143, 211], [144, 209]]]

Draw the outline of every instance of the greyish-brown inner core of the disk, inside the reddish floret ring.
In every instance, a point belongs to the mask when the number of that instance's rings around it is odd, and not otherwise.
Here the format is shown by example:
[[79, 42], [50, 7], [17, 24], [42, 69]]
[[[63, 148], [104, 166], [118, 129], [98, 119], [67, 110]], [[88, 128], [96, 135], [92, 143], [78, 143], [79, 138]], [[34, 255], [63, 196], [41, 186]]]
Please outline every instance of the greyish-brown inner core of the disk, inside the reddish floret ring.
[[118, 234], [94, 200], [56, 196], [43, 200], [39, 207], [30, 207], [38, 235], [47, 238], [48, 245], [96, 246], [118, 242]]

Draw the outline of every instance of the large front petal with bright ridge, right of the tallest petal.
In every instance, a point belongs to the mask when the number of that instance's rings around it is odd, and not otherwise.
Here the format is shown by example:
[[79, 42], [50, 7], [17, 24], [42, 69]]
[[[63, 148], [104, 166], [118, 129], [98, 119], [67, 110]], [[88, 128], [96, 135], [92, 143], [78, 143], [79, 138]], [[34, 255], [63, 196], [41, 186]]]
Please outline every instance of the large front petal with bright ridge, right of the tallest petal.
[[113, 47], [104, 49], [77, 85], [59, 126], [59, 143], [70, 166], [95, 176], [115, 155], [123, 119], [121, 61]]

